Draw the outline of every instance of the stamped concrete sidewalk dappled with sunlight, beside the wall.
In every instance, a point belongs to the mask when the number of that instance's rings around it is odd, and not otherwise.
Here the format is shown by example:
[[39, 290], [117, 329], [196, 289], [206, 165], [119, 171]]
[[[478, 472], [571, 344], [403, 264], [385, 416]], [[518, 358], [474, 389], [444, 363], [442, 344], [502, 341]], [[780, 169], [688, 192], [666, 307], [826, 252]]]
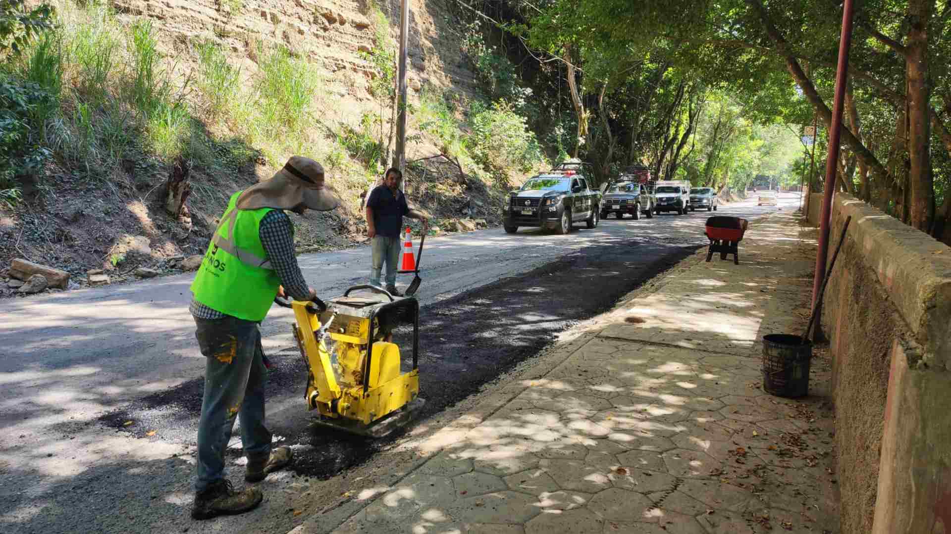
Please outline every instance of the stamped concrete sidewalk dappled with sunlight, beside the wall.
[[397, 484], [356, 496], [335, 532], [838, 532], [827, 365], [813, 360], [805, 399], [761, 388], [759, 339], [805, 326], [813, 237], [774, 214], [740, 265], [698, 255], [631, 294], [550, 371], [420, 445]]

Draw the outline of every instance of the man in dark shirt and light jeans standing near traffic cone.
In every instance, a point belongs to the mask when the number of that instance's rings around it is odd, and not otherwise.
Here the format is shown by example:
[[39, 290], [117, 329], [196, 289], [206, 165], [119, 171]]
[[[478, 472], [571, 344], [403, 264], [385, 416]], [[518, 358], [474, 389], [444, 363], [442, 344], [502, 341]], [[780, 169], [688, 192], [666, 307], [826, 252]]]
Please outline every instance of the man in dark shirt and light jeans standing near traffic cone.
[[397, 269], [399, 262], [399, 230], [403, 227], [403, 217], [422, 221], [423, 232], [429, 229], [429, 218], [421, 212], [410, 209], [406, 196], [399, 190], [403, 173], [398, 168], [390, 168], [383, 176], [382, 184], [370, 192], [366, 201], [367, 235], [372, 239], [373, 268], [370, 271], [370, 284], [379, 287], [379, 277], [386, 263], [386, 291], [394, 296], [402, 296], [397, 291]]

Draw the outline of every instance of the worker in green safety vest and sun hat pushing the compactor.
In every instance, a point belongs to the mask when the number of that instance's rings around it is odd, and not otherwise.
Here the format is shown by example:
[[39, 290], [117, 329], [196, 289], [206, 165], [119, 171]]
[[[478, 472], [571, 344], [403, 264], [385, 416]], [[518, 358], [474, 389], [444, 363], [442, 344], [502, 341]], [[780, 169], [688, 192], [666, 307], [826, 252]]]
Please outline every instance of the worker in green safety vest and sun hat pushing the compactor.
[[261, 504], [260, 489], [236, 491], [224, 478], [224, 449], [236, 417], [241, 418], [247, 457], [245, 481], [260, 482], [290, 464], [291, 449], [272, 448], [264, 424], [267, 371], [258, 325], [275, 296], [313, 300], [323, 307], [301, 275], [294, 226], [285, 211], [329, 211], [339, 203], [324, 183], [320, 163], [300, 156], [288, 160], [270, 180], [228, 200], [191, 285], [189, 311], [205, 356], [194, 519], [243, 513]]

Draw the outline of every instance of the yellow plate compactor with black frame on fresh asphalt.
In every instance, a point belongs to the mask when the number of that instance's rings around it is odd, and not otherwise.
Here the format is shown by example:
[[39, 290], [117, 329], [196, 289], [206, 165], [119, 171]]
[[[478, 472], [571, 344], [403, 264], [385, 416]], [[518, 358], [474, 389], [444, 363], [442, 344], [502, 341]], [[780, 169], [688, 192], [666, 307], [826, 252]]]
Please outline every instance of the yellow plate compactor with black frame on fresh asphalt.
[[[316, 423], [381, 437], [405, 426], [422, 409], [419, 395], [419, 302], [358, 285], [326, 301], [293, 301], [297, 338], [307, 364], [309, 410]], [[412, 344], [413, 368], [400, 372], [398, 343]]]

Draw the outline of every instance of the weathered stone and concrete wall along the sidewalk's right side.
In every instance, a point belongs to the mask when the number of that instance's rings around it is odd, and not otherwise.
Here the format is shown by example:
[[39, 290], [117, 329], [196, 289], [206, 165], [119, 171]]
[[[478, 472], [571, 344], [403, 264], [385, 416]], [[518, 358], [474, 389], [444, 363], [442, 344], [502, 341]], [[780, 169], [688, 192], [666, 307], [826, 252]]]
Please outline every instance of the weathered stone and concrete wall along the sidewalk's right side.
[[842, 532], [951, 532], [951, 248], [837, 194], [829, 257], [848, 216], [823, 312]]

